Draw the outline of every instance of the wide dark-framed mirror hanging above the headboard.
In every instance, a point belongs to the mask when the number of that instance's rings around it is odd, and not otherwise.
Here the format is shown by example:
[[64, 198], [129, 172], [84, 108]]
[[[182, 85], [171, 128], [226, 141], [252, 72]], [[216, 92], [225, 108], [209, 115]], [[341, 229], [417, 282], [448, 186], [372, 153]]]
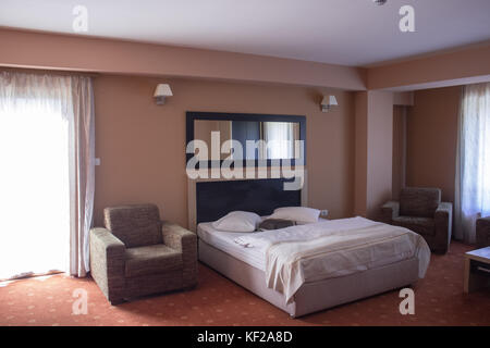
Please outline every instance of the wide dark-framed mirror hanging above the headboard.
[[[256, 166], [305, 164], [306, 117], [297, 115], [187, 112], [186, 161], [193, 157], [199, 163], [219, 160], [243, 160]], [[208, 151], [201, 151], [204, 141]], [[218, 151], [217, 151], [218, 148]], [[213, 157], [211, 157], [213, 156]]]

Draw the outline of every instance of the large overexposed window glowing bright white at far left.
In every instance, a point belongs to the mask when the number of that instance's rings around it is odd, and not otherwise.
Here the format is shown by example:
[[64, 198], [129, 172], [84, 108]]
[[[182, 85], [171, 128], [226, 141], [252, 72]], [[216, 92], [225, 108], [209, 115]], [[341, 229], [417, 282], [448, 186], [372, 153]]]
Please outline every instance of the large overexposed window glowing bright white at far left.
[[69, 122], [58, 102], [0, 101], [0, 279], [69, 264]]

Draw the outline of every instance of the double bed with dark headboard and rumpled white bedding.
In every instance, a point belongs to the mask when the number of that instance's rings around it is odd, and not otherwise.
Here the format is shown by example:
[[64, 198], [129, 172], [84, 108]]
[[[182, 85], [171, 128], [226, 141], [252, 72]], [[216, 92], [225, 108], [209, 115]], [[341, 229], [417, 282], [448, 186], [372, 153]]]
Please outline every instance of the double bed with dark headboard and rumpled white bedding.
[[[293, 318], [406, 287], [424, 277], [430, 259], [424, 239], [406, 228], [364, 217], [252, 234], [212, 226], [212, 221], [231, 211], [267, 216], [279, 207], [304, 204], [299, 192], [292, 196], [280, 189], [283, 181], [195, 183], [199, 260]], [[248, 247], [240, 240], [248, 240]]]

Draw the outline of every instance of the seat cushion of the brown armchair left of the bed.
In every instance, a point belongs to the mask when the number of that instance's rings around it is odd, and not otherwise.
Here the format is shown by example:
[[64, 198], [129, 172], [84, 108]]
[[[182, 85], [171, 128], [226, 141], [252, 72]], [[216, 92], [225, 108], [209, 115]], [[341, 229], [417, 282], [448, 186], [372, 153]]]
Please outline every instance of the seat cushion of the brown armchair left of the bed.
[[182, 253], [163, 244], [126, 249], [125, 276], [162, 273], [183, 266]]

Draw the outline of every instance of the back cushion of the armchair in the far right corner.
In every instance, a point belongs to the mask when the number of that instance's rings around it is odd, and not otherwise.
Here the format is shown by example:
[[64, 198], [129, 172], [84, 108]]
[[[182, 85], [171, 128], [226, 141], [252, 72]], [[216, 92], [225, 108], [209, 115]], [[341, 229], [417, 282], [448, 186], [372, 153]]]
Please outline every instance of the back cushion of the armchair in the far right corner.
[[400, 215], [433, 217], [440, 202], [439, 188], [406, 187], [400, 194]]

